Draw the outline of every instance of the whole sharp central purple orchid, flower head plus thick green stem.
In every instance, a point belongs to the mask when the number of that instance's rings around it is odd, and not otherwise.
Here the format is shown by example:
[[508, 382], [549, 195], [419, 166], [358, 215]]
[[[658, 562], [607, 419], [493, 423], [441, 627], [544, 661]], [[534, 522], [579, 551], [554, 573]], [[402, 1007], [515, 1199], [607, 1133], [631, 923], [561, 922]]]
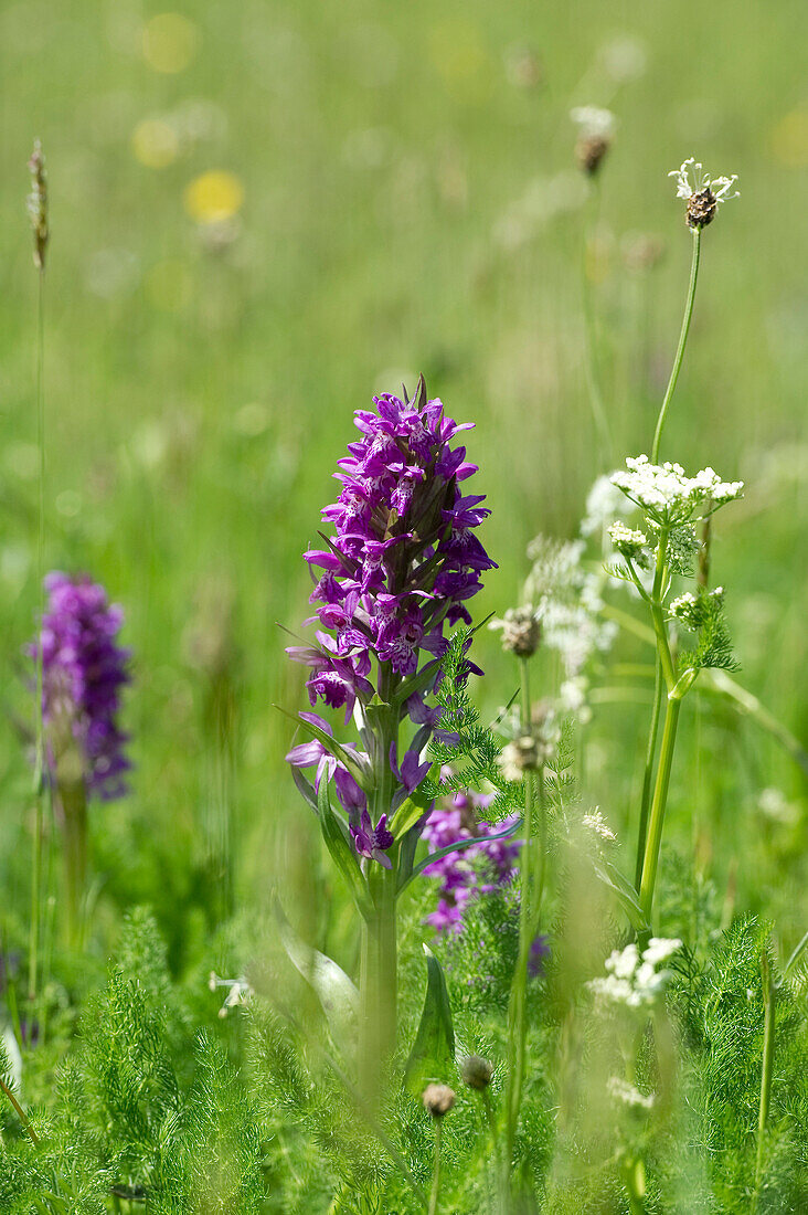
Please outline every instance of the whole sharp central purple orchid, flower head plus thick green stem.
[[[299, 720], [312, 739], [287, 756], [362, 915], [360, 1086], [371, 1095], [396, 1041], [396, 904], [431, 813], [413, 796], [430, 770], [422, 756], [440, 722], [429, 697], [448, 644], [443, 629], [470, 623], [465, 603], [495, 564], [474, 535], [488, 514], [484, 499], [460, 490], [476, 465], [463, 446], [451, 446], [469, 425], [445, 417], [423, 377], [412, 402], [384, 395], [374, 406], [356, 412], [361, 437], [339, 462], [338, 501], [322, 513], [335, 535], [305, 554], [320, 571], [311, 594], [316, 644], [288, 649], [311, 669], [311, 707], [321, 700], [344, 708], [358, 746], [306, 712]], [[315, 765], [312, 784], [300, 769]]]

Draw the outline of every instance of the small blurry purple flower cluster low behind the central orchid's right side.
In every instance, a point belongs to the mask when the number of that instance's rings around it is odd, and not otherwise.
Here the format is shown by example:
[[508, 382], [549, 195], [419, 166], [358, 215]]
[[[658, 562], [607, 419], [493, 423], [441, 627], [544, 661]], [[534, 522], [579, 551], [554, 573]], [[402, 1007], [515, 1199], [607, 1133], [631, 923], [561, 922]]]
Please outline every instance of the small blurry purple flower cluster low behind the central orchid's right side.
[[512, 881], [516, 872], [515, 863], [522, 841], [488, 838], [516, 820], [507, 819], [496, 826], [480, 820], [479, 813], [490, 803], [491, 798], [481, 793], [454, 793], [433, 810], [424, 827], [423, 838], [430, 852], [439, 852], [460, 840], [479, 841], [460, 852], [440, 857], [424, 870], [441, 882], [437, 909], [426, 916], [426, 922], [439, 932], [459, 932], [469, 899], [497, 889]]

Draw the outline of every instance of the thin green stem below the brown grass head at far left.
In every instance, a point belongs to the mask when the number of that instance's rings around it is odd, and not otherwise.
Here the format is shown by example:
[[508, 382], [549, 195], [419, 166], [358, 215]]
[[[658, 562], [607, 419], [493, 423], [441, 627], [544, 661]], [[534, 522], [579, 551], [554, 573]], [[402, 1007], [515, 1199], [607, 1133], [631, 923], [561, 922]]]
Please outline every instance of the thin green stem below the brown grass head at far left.
[[[45, 615], [45, 264], [36, 276], [36, 443], [39, 446], [39, 530], [36, 580], [40, 621]], [[41, 625], [40, 625], [41, 627]], [[39, 970], [39, 917], [41, 902], [43, 790], [45, 785], [45, 723], [43, 719], [43, 648], [36, 646], [36, 751], [34, 763], [34, 840], [30, 866], [30, 929], [28, 940], [28, 996], [36, 999]]]

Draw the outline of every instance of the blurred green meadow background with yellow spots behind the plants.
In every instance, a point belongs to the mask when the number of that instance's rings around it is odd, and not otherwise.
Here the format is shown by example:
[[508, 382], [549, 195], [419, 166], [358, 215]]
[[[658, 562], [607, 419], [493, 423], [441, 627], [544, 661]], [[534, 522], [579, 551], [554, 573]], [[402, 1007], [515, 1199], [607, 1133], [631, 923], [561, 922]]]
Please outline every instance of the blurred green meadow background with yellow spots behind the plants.
[[[616, 456], [650, 445], [690, 256], [666, 174], [689, 156], [739, 174], [741, 197], [704, 236], [665, 454], [747, 482], [717, 522], [714, 578], [740, 680], [808, 736], [807, 38], [797, 0], [2, 5], [12, 938], [29, 889], [22, 646], [39, 610], [34, 136], [52, 228], [45, 567], [103, 581], [134, 651], [132, 792], [92, 809], [94, 948], [106, 953], [118, 909], [146, 902], [182, 968], [231, 908], [261, 908], [275, 887], [313, 928], [329, 905], [313, 818], [283, 764], [293, 725], [273, 706], [301, 705], [278, 622], [307, 615], [300, 554], [335, 492], [351, 412], [423, 372], [476, 423], [468, 447], [499, 570], [475, 611], [514, 604], [530, 538], [573, 536], [614, 463], [586, 390], [582, 266]], [[569, 118], [586, 103], [618, 119], [597, 220]], [[654, 265], [638, 264], [643, 248]], [[617, 659], [649, 655], [623, 640]], [[515, 672], [488, 633], [480, 661], [493, 713]], [[584, 797], [625, 841], [629, 872], [650, 686], [621, 669], [604, 677], [615, 696], [591, 727]], [[789, 948], [808, 912], [804, 776], [748, 720], [700, 703], [688, 702], [666, 847], [718, 902], [729, 891], [736, 909], [772, 916]]]

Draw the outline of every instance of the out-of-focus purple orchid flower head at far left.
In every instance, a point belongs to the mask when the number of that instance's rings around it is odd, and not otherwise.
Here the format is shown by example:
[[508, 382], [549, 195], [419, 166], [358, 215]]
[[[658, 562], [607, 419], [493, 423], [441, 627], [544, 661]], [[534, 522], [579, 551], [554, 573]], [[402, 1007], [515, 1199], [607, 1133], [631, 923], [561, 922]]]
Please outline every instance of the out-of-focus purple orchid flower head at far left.
[[87, 792], [109, 801], [126, 791], [123, 774], [131, 767], [124, 755], [128, 735], [118, 727], [130, 656], [115, 640], [123, 611], [86, 575], [55, 571], [46, 576], [45, 589], [49, 600], [40, 639], [28, 646], [28, 654], [36, 659], [41, 643], [49, 764], [57, 769], [73, 740]]

